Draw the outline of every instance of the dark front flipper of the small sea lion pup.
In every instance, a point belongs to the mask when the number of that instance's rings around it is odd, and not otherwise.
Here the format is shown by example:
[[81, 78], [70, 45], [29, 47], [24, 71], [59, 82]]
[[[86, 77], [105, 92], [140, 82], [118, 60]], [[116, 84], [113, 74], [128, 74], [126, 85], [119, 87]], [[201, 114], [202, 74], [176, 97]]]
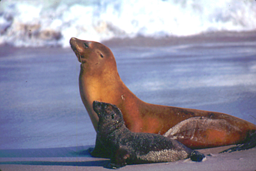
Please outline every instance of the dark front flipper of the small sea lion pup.
[[110, 158], [109, 168], [120, 168], [126, 166], [126, 160], [130, 158], [129, 150], [126, 146], [120, 146], [114, 156]]

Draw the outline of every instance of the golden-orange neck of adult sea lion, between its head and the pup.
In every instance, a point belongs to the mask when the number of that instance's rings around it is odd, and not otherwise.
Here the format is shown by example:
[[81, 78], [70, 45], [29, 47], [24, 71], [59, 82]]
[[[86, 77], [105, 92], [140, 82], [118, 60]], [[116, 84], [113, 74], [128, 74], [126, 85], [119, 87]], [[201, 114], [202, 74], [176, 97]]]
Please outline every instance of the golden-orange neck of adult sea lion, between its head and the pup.
[[93, 111], [93, 101], [98, 100], [100, 102], [122, 106], [124, 100], [123, 94], [130, 93], [130, 90], [126, 90], [126, 88], [120, 86], [124, 85], [124, 83], [119, 78], [118, 73], [116, 72], [114, 74], [116, 74], [114, 78], [112, 78], [113, 73], [106, 74], [105, 76], [97, 76], [96, 74], [86, 72], [81, 67], [79, 76], [80, 96], [95, 130], [97, 130], [98, 116]]

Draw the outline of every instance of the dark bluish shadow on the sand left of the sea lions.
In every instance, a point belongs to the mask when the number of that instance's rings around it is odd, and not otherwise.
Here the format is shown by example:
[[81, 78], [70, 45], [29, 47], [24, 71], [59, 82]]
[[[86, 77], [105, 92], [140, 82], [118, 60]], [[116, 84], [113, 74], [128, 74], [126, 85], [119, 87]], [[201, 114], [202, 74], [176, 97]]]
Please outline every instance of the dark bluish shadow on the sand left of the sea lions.
[[0, 165], [107, 167], [109, 160], [93, 158], [88, 151], [91, 147], [93, 146], [48, 149], [0, 149]]

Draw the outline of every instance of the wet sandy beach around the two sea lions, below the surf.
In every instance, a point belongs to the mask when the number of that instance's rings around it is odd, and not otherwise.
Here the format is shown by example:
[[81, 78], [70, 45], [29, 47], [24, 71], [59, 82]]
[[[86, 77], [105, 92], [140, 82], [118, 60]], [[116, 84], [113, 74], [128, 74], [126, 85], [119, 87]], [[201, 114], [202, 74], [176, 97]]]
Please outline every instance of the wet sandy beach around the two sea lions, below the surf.
[[[227, 113], [256, 124], [256, 34], [113, 39], [126, 86], [140, 99]], [[0, 46], [0, 169], [107, 170], [92, 158], [96, 132], [79, 95], [79, 62], [70, 48]], [[256, 170], [256, 149], [200, 149], [200, 163], [128, 165], [120, 170]]]

